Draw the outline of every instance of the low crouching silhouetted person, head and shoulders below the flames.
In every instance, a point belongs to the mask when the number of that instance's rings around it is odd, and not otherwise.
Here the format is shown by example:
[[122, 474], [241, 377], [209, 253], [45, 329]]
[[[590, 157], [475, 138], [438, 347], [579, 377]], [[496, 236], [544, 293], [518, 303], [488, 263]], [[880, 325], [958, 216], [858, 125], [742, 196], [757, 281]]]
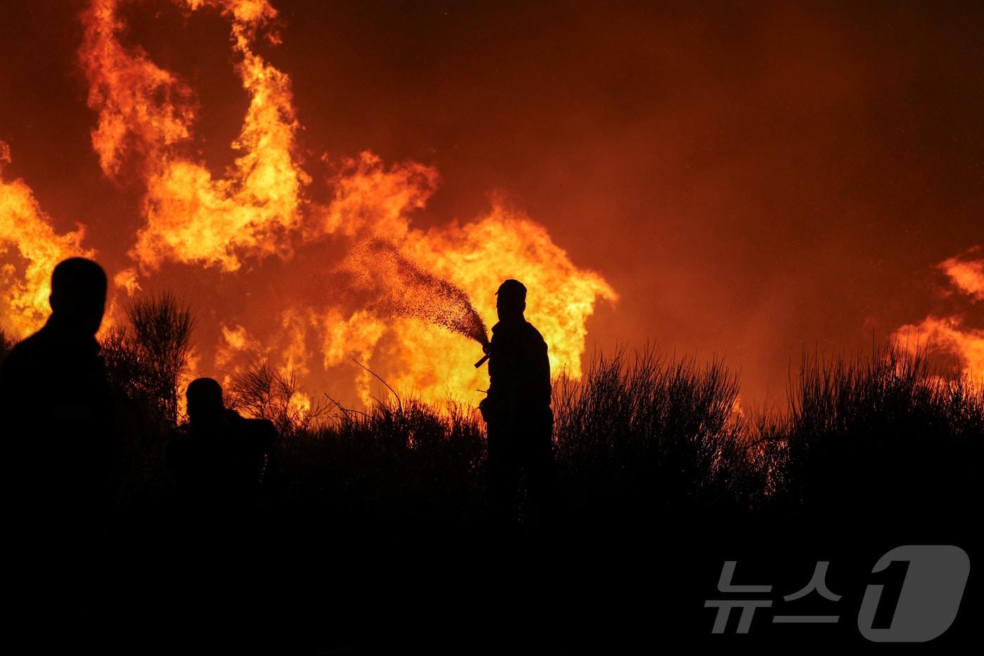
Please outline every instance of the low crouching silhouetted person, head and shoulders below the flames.
[[186, 397], [189, 422], [167, 454], [184, 503], [206, 514], [249, 510], [258, 501], [277, 428], [226, 408], [214, 378], [193, 380]]

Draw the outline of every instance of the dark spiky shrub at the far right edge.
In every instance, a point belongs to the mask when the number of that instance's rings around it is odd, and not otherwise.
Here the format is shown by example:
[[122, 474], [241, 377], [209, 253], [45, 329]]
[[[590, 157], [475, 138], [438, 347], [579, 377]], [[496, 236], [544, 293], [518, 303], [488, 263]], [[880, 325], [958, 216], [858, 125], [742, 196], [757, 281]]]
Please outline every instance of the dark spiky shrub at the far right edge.
[[804, 353], [783, 416], [759, 418], [789, 511], [894, 521], [979, 505], [984, 390], [925, 349], [870, 358]]

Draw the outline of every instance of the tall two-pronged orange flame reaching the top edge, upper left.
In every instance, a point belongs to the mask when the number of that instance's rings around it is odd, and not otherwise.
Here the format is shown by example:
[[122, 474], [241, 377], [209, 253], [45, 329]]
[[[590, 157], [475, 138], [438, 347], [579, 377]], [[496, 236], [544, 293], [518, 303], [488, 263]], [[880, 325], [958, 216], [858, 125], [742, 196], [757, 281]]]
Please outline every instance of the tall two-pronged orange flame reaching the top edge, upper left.
[[131, 255], [144, 273], [165, 260], [235, 271], [243, 255], [284, 254], [282, 237], [300, 226], [301, 187], [308, 176], [294, 162], [298, 128], [289, 78], [255, 54], [257, 30], [276, 17], [267, 2], [187, 0], [196, 10], [218, 7], [231, 18], [233, 50], [249, 109], [232, 148], [242, 153], [225, 178], [183, 156], [195, 114], [191, 91], [141, 50], [118, 39], [118, 0], [95, 0], [83, 16], [81, 57], [90, 81], [89, 105], [99, 110], [92, 146], [103, 171], [120, 174], [127, 156], [140, 158], [147, 226]]

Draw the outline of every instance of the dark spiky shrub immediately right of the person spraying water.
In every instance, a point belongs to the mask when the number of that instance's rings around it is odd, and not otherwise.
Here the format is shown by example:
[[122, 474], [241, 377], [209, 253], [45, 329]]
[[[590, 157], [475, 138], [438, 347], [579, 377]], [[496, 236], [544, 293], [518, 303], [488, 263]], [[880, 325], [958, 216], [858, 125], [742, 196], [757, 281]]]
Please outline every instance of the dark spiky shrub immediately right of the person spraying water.
[[599, 515], [749, 509], [765, 477], [733, 412], [738, 376], [646, 349], [595, 354], [584, 378], [554, 384], [555, 439], [566, 493]]

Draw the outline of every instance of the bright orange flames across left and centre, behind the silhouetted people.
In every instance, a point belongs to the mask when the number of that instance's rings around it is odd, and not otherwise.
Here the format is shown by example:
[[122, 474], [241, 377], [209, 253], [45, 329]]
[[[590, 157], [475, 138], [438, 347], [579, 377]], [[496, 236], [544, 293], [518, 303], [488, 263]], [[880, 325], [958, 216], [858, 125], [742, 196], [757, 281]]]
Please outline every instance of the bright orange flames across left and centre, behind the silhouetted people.
[[[81, 16], [79, 53], [97, 112], [92, 150], [105, 176], [121, 184], [136, 179], [144, 189], [132, 265], [110, 277], [120, 294], [133, 295], [166, 264], [248, 279], [273, 257], [289, 272], [281, 283], [289, 286], [314, 259], [301, 265], [297, 251], [323, 249], [312, 273], [330, 281], [320, 297], [289, 290], [261, 301], [246, 295], [239, 316], [203, 317], [215, 322], [217, 340], [199, 345], [206, 355], [196, 360], [201, 373], [210, 373], [211, 356], [213, 375], [228, 382], [262, 358], [300, 376], [311, 391], [334, 390], [339, 376], [347, 378], [368, 402], [373, 377], [350, 362], [356, 360], [429, 401], [473, 401], [487, 383], [471, 362], [480, 355], [476, 342], [486, 339], [484, 320], [495, 316], [494, 291], [502, 280], [519, 278], [531, 290], [527, 318], [550, 345], [554, 370], [580, 375], [585, 321], [598, 300], [617, 298], [599, 275], [575, 266], [547, 230], [503, 202], [470, 223], [413, 228], [413, 213], [440, 180], [426, 164], [388, 165], [362, 153], [337, 163], [337, 173], [324, 180], [331, 200], [315, 202], [299, 155], [290, 78], [256, 47], [261, 39], [279, 42], [277, 10], [266, 0], [175, 1], [186, 14], [215, 11], [228, 21], [248, 109], [231, 144], [236, 158], [216, 176], [193, 148], [195, 90], [139, 45], [124, 44], [120, 0], [92, 1]], [[14, 310], [5, 328], [23, 336], [46, 314], [54, 263], [92, 251], [83, 248], [83, 228], [54, 233], [24, 182], [0, 183], [4, 238], [29, 262], [20, 278], [4, 270]], [[191, 293], [212, 304], [208, 290]], [[304, 408], [310, 399], [291, 402]]]

